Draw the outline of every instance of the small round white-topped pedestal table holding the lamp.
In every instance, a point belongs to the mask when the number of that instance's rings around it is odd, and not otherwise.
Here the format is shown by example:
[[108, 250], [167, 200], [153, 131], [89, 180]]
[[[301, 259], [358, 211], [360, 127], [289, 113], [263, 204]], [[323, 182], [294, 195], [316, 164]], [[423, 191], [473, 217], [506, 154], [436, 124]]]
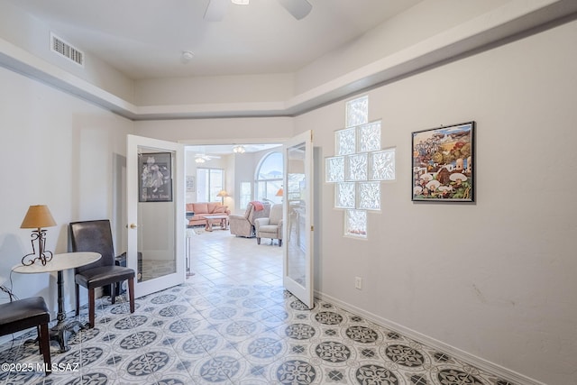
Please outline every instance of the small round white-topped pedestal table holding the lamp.
[[66, 312], [64, 311], [64, 278], [63, 270], [74, 269], [98, 261], [102, 255], [98, 252], [65, 252], [54, 254], [52, 259], [42, 265], [36, 261], [29, 266], [17, 265], [12, 268], [14, 272], [21, 274], [37, 274], [41, 272], [58, 271], [58, 322], [50, 329], [50, 339], [56, 340], [60, 344], [60, 353], [69, 351], [68, 335], [66, 332], [76, 333], [75, 326], [80, 329], [86, 328], [78, 321], [65, 322]]

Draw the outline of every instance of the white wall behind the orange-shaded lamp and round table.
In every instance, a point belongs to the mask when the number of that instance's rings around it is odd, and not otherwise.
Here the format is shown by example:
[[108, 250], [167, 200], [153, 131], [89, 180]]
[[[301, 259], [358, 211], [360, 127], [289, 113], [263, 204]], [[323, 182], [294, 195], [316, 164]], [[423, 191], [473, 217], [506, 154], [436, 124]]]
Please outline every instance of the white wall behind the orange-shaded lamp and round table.
[[[20, 229], [30, 205], [46, 204], [57, 222], [48, 229], [47, 250], [68, 252], [68, 224], [113, 218], [115, 157], [125, 156], [133, 123], [95, 105], [0, 68], [0, 275], [32, 252], [30, 229]], [[114, 234], [117, 226], [114, 223]], [[118, 236], [118, 235], [117, 235]], [[55, 319], [56, 273], [12, 274], [19, 298], [44, 297]], [[73, 309], [74, 285], [65, 274], [65, 306]], [[6, 286], [10, 286], [8, 281]], [[81, 291], [86, 301], [86, 291]], [[0, 298], [5, 302], [7, 298]]]

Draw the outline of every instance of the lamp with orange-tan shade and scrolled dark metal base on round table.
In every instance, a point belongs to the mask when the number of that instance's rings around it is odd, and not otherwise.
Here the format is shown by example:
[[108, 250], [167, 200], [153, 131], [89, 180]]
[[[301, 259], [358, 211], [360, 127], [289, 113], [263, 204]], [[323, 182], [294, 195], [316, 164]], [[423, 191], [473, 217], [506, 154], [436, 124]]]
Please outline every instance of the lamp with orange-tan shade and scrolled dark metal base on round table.
[[[56, 222], [50, 214], [48, 206], [36, 205], [28, 208], [28, 212], [26, 216], [24, 216], [20, 228], [36, 230], [32, 230], [32, 240], [30, 241], [32, 243], [32, 252], [23, 256], [23, 265], [32, 265], [37, 260], [41, 261], [42, 265], [45, 265], [47, 261], [52, 259], [52, 252], [44, 250], [46, 245], [46, 230], [43, 230], [42, 227], [52, 227], [55, 225]], [[34, 249], [34, 241], [38, 241], [38, 256], [36, 256], [36, 250]]]

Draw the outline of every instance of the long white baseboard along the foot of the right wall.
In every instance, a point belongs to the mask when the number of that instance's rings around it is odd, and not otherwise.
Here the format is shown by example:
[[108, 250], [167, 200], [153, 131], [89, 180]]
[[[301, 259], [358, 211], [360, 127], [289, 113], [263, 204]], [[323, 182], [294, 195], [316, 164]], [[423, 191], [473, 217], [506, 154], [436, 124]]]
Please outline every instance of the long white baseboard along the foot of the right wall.
[[538, 380], [531, 379], [521, 373], [517, 373], [517, 371], [511, 371], [507, 368], [504, 368], [497, 363], [487, 361], [482, 359], [481, 357], [477, 357], [471, 353], [464, 352], [461, 349], [458, 349], [450, 344], [444, 344], [443, 342], [436, 340], [435, 338], [429, 337], [428, 335], [423, 335], [416, 330], [409, 329], [403, 325], [398, 325], [395, 322], [389, 321], [388, 319], [382, 318], [380, 316], [376, 316], [370, 312], [367, 312], [359, 307], [354, 307], [346, 302], [343, 302], [337, 298], [333, 298], [331, 296], [327, 296], [320, 292], [315, 292], [315, 297], [322, 299], [326, 302], [330, 302], [331, 304], [341, 307], [346, 311], [349, 311], [357, 316], [362, 316], [365, 319], [386, 327], [392, 331], [397, 332], [400, 335], [405, 335], [410, 339], [417, 341], [418, 343], [425, 344], [426, 346], [438, 349], [441, 352], [449, 353], [454, 358], [467, 362], [471, 364], [473, 367], [481, 369], [482, 371], [486, 371], [488, 373], [494, 374], [501, 378], [502, 380], [508, 380], [513, 382], [517, 385], [546, 385], [544, 382], [540, 382]]

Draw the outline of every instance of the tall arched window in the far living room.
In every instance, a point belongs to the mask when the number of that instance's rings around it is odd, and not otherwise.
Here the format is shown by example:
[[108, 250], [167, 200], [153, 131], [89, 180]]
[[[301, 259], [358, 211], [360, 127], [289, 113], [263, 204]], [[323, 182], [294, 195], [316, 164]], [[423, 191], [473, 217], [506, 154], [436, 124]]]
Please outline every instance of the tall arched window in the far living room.
[[256, 170], [255, 199], [282, 203], [282, 193], [277, 195], [282, 188], [282, 171], [282, 152], [270, 152], [262, 158]]

